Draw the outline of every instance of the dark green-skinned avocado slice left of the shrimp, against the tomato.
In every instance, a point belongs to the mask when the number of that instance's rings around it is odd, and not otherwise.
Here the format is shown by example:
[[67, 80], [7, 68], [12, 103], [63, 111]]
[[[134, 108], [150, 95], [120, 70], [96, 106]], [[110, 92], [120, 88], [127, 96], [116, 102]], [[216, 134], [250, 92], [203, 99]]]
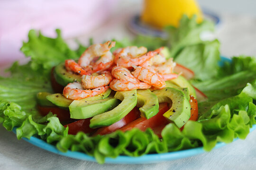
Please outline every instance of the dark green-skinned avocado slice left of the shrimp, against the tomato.
[[67, 71], [65, 68], [65, 63], [60, 63], [54, 68], [54, 76], [55, 80], [63, 86], [73, 82], [79, 81], [81, 82], [81, 75], [73, 73], [71, 71]]

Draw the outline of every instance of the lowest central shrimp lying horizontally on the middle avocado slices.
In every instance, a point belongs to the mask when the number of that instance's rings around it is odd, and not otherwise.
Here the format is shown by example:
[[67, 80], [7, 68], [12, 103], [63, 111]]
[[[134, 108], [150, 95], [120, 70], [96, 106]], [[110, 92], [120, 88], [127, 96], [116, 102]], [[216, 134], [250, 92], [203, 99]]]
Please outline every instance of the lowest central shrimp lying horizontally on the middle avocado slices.
[[134, 90], [134, 89], [148, 89], [151, 85], [148, 85], [143, 82], [129, 82], [126, 80], [119, 80], [114, 79], [110, 83], [110, 88], [114, 91], [128, 91], [128, 90]]

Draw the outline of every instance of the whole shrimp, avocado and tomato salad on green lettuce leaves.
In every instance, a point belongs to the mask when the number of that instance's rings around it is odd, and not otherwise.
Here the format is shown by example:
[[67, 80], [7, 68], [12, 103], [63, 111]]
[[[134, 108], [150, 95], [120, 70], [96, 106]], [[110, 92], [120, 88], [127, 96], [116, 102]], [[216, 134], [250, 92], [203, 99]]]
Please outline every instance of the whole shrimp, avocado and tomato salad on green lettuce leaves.
[[71, 50], [60, 30], [56, 38], [31, 30], [21, 47], [31, 61], [13, 63], [11, 76], [0, 77], [0, 123], [16, 127], [18, 139], [36, 136], [99, 163], [245, 139], [256, 124], [256, 59], [219, 66], [219, 41], [200, 39], [213, 28], [184, 16], [178, 28], [166, 27], [168, 39], [138, 36], [103, 43], [104, 54], [91, 50], [106, 58], [88, 56], [92, 42]]

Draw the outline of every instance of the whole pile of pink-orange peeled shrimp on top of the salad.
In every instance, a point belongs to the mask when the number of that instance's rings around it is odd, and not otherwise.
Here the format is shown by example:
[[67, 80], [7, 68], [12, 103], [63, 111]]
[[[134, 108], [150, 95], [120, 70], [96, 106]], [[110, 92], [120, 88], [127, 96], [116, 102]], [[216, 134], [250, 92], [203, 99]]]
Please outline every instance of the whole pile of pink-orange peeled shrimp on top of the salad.
[[113, 53], [116, 42], [93, 44], [85, 50], [78, 62], [65, 61], [65, 68], [81, 75], [81, 83], [73, 82], [64, 87], [66, 98], [80, 100], [92, 97], [111, 88], [114, 91], [133, 89], [162, 89], [165, 81], [177, 78], [173, 73], [175, 62], [165, 59], [161, 51], [147, 51], [146, 47], [130, 46]]

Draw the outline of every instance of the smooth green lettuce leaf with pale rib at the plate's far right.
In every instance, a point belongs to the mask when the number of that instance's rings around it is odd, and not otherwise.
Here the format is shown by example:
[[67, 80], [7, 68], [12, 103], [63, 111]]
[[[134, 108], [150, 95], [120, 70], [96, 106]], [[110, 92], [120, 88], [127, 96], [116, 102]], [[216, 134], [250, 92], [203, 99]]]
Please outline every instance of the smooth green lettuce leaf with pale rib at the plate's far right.
[[233, 57], [231, 62], [226, 62], [223, 67], [219, 68], [215, 78], [193, 81], [192, 84], [205, 93], [209, 101], [218, 101], [237, 95], [248, 82], [255, 84], [255, 80], [256, 59], [239, 56]]

